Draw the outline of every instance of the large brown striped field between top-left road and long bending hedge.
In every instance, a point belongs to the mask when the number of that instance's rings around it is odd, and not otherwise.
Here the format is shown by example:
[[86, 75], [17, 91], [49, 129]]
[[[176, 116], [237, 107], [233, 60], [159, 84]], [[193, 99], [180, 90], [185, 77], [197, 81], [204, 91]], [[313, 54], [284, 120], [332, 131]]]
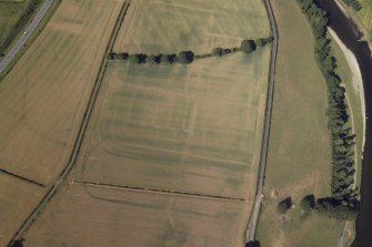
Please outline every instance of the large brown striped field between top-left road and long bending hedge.
[[0, 83], [1, 168], [48, 184], [67, 164], [122, 0], [63, 0]]

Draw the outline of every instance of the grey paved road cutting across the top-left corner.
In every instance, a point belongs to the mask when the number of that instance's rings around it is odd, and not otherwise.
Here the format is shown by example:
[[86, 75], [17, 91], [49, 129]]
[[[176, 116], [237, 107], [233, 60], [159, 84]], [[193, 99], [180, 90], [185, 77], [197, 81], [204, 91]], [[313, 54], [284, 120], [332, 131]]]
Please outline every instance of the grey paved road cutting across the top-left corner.
[[0, 73], [8, 66], [8, 64], [13, 60], [16, 54], [21, 50], [21, 48], [26, 44], [27, 40], [33, 33], [42, 18], [48, 12], [49, 8], [53, 3], [54, 0], [46, 0], [42, 7], [40, 8], [38, 14], [32, 20], [31, 24], [26, 29], [22, 37], [17, 41], [14, 47], [10, 50], [10, 52], [6, 55], [6, 58], [0, 62]]

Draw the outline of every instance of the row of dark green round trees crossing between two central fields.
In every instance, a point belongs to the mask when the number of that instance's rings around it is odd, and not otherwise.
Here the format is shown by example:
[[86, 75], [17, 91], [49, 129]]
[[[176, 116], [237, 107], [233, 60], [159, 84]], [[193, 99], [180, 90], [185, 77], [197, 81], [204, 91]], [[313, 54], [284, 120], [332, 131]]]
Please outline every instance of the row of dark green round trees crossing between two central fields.
[[260, 38], [255, 40], [243, 40], [239, 48], [214, 48], [211, 53], [207, 54], [194, 54], [192, 51], [181, 51], [178, 54], [145, 54], [145, 53], [115, 53], [109, 54], [110, 60], [122, 60], [129, 61], [134, 64], [150, 63], [150, 64], [173, 64], [182, 63], [189, 64], [198, 59], [205, 59], [211, 56], [223, 56], [233, 52], [243, 52], [245, 54], [254, 52], [258, 48], [262, 48], [273, 41], [272, 37]]

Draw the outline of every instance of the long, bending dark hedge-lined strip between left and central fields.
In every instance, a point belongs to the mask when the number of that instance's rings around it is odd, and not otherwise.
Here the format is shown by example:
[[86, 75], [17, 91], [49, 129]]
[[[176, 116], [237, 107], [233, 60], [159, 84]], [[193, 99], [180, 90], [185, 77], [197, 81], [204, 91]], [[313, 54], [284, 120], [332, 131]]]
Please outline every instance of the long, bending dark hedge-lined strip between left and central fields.
[[12, 239], [9, 241], [8, 246], [12, 246], [16, 240], [22, 239], [26, 231], [37, 220], [38, 216], [42, 213], [44, 207], [53, 198], [53, 196], [58, 192], [58, 188], [62, 185], [62, 183], [64, 182], [67, 176], [70, 174], [72, 167], [76, 165], [78, 155], [80, 153], [80, 147], [81, 147], [82, 141], [83, 141], [84, 135], [86, 135], [88, 123], [90, 121], [90, 116], [92, 114], [94, 103], [95, 103], [98, 93], [100, 91], [101, 84], [102, 84], [103, 75], [104, 75], [107, 66], [108, 66], [108, 54], [112, 51], [115, 38], [118, 37], [120, 27], [124, 21], [124, 17], [127, 14], [127, 10], [128, 10], [129, 6], [130, 6], [130, 0], [128, 0], [123, 3], [123, 6], [120, 10], [120, 13], [119, 13], [119, 18], [117, 19], [114, 28], [112, 30], [112, 33], [110, 35], [110, 40], [108, 42], [105, 53], [104, 53], [104, 55], [102, 58], [102, 61], [101, 61], [101, 68], [100, 68], [99, 73], [97, 75], [97, 79], [95, 79], [95, 82], [94, 82], [94, 85], [93, 85], [93, 90], [91, 92], [91, 95], [90, 95], [90, 99], [89, 99], [89, 102], [88, 102], [88, 105], [87, 105], [87, 109], [86, 109], [86, 112], [84, 112], [84, 115], [83, 115], [83, 120], [82, 120], [82, 123], [80, 125], [79, 133], [78, 133], [77, 140], [74, 142], [74, 145], [73, 145], [71, 156], [69, 158], [68, 164], [64, 166], [63, 171], [58, 176], [54, 184], [50, 187], [50, 189], [47, 192], [47, 194], [43, 196], [43, 198], [40, 200], [40, 203], [37, 205], [37, 207], [32, 210], [32, 213], [23, 222], [21, 227], [17, 230], [17, 233], [14, 234]]

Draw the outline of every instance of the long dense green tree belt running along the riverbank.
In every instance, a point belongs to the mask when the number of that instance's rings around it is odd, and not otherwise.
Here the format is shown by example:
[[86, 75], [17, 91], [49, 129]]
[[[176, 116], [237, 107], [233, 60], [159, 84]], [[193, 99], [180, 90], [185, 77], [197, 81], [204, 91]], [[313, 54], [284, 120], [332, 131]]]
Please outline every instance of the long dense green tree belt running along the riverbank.
[[[354, 184], [354, 145], [355, 135], [348, 126], [349, 115], [345, 104], [345, 89], [335, 72], [336, 59], [331, 52], [331, 40], [326, 37], [326, 12], [314, 0], [298, 0], [308, 17], [315, 40], [314, 51], [328, 86], [328, 127], [331, 135], [332, 167], [331, 167], [331, 197], [319, 204], [319, 212], [351, 210], [356, 213], [356, 192]], [[340, 202], [340, 203], [339, 203]]]

